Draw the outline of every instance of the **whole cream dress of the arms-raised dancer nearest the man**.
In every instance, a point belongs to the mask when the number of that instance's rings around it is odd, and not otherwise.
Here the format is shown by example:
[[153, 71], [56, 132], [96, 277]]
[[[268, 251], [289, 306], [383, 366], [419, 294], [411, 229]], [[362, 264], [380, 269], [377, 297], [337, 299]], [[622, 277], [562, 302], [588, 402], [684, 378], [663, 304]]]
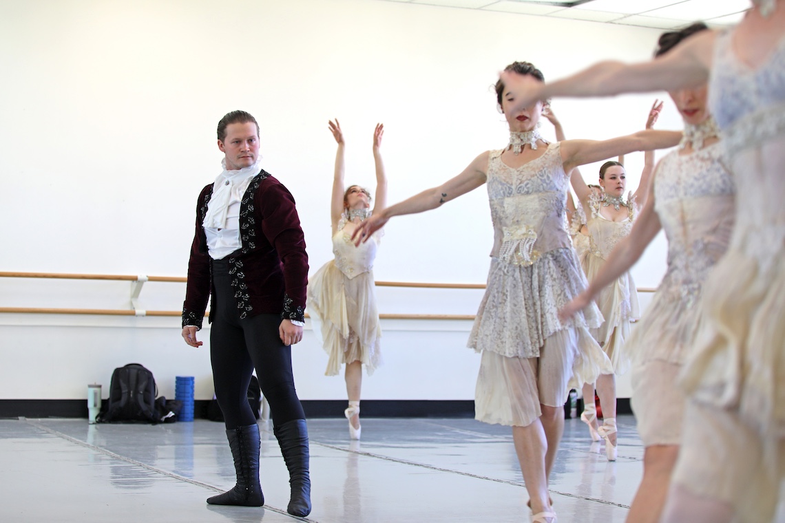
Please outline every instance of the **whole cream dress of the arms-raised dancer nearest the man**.
[[322, 346], [330, 358], [325, 375], [335, 376], [344, 363], [362, 361], [368, 375], [382, 365], [382, 327], [376, 307], [374, 260], [381, 231], [355, 247], [341, 216], [333, 236], [334, 260], [308, 282], [308, 310], [319, 324]]

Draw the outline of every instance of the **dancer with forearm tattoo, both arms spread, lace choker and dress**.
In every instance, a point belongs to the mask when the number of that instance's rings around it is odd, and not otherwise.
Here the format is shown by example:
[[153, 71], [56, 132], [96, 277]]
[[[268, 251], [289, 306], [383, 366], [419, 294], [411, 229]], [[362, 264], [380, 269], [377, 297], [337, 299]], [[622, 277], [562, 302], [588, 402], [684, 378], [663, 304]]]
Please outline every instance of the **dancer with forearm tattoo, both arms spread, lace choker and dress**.
[[[506, 67], [542, 82], [528, 62]], [[491, 270], [469, 347], [482, 353], [475, 417], [513, 427], [513, 441], [530, 496], [532, 521], [553, 523], [548, 478], [564, 430], [568, 382], [593, 382], [612, 372], [590, 335], [602, 318], [590, 305], [568, 321], [557, 311], [586, 287], [566, 225], [568, 175], [610, 156], [672, 147], [681, 133], [645, 130], [612, 140], [547, 143], [537, 125], [542, 103], [510, 111], [515, 98], [496, 84], [509, 125], [509, 144], [477, 156], [463, 173], [371, 216], [355, 232], [367, 240], [392, 216], [436, 209], [487, 182], [494, 223]]]

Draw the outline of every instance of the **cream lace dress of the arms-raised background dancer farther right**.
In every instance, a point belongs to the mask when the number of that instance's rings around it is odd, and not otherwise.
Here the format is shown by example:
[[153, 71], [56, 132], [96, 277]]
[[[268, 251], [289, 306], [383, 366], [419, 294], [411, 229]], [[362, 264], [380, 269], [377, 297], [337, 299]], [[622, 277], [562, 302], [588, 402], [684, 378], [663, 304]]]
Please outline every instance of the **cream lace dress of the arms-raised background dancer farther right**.
[[[588, 202], [591, 216], [586, 223], [589, 229], [589, 252], [583, 256], [582, 267], [586, 278], [592, 281], [608, 260], [617, 243], [626, 238], [633, 228], [637, 207], [630, 202], [625, 220], [615, 222], [600, 214], [601, 202], [592, 192]], [[613, 364], [613, 372], [623, 374], [630, 369], [630, 358], [624, 351], [624, 341], [630, 337], [630, 321], [641, 317], [635, 281], [629, 272], [602, 289], [594, 300], [600, 307], [605, 321], [590, 332]]]

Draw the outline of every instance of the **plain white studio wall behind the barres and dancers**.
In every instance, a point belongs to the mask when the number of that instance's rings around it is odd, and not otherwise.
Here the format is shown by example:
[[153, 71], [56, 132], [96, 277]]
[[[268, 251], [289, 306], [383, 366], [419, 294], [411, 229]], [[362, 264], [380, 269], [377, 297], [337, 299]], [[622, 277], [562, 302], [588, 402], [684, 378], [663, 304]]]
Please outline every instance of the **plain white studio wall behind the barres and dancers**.
[[[373, 185], [371, 134], [385, 123], [390, 201], [506, 144], [491, 85], [529, 60], [546, 78], [613, 57], [643, 60], [659, 31], [370, 0], [0, 0], [0, 271], [185, 274], [195, 197], [220, 171], [215, 125], [242, 108], [261, 125], [265, 169], [298, 201], [312, 272], [330, 259], [338, 117], [347, 182]], [[655, 95], [657, 96], [657, 95]], [[568, 137], [641, 129], [655, 96], [556, 100]], [[659, 94], [663, 98], [663, 94]], [[679, 129], [670, 104], [659, 128]], [[552, 129], [544, 126], [546, 136]], [[643, 154], [626, 158], [637, 186]], [[582, 169], [596, 179], [598, 165]], [[389, 223], [378, 280], [483, 282], [492, 231], [484, 188]], [[633, 271], [657, 285], [662, 238]], [[127, 307], [128, 283], [0, 279], [0, 306]], [[382, 312], [473, 314], [475, 291], [380, 289]], [[182, 285], [145, 285], [143, 307], [178, 310]], [[385, 321], [387, 365], [363, 397], [470, 399], [469, 322]], [[161, 393], [197, 377], [207, 350], [176, 318], [0, 314], [0, 398], [84, 398], [111, 369], [150, 367]], [[206, 338], [207, 331], [202, 335]], [[303, 399], [344, 398], [309, 331], [294, 350]], [[104, 395], [106, 395], [104, 391]]]

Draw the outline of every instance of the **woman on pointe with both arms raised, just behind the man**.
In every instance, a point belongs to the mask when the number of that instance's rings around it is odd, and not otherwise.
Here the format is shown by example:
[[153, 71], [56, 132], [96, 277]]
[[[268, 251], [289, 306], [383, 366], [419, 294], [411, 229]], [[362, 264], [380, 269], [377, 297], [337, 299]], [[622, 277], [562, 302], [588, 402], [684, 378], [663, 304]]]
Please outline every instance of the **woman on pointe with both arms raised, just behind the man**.
[[[321, 324], [323, 347], [330, 354], [325, 374], [336, 376], [341, 364], [346, 365], [344, 377], [349, 408], [344, 414], [349, 419], [349, 438], [359, 440], [363, 365], [371, 376], [382, 364], [379, 347], [382, 327], [376, 308], [373, 272], [382, 233], [374, 234], [372, 242], [358, 247], [352, 242], [352, 233], [371, 216], [371, 194], [359, 185], [352, 185], [344, 191], [343, 133], [338, 119], [329, 122], [329, 125], [338, 142], [330, 212], [335, 259], [325, 263], [309, 281], [308, 306], [312, 316]], [[379, 151], [384, 132], [384, 125], [377, 124], [373, 149], [376, 166], [373, 212], [384, 209], [387, 202], [387, 176]]]

